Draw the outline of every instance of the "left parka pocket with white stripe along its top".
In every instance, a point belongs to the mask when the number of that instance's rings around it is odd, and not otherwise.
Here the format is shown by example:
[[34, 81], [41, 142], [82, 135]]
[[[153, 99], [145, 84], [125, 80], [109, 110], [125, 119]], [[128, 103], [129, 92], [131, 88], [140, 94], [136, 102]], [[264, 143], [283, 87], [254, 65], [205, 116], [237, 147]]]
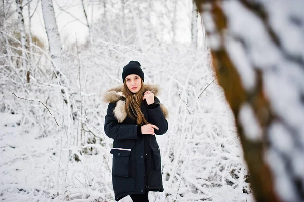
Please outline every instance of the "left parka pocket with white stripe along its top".
[[129, 177], [131, 149], [113, 148], [110, 153], [113, 154], [112, 175]]

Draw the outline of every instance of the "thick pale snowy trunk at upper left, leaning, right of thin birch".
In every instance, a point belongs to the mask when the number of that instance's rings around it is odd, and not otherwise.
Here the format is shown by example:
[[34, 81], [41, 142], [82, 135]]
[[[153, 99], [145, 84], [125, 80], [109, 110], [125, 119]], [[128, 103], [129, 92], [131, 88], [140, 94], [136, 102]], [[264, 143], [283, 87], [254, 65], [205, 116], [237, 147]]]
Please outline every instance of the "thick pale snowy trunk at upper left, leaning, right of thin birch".
[[55, 12], [52, 0], [41, 0], [41, 6], [43, 11], [43, 19], [48, 36], [49, 50], [54, 66], [61, 67], [62, 59], [62, 45], [58, 32], [58, 27], [55, 18]]

